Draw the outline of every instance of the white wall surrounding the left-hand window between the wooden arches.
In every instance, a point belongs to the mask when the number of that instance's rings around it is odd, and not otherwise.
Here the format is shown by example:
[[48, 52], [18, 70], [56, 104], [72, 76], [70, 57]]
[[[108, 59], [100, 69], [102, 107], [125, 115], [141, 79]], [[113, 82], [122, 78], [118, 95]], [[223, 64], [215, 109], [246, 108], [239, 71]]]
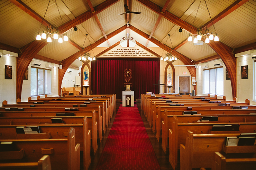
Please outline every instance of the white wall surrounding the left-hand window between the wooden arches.
[[[54, 65], [54, 63], [50, 63], [50, 62], [46, 62], [38, 59], [33, 59], [33, 60], [39, 61], [41, 63], [41, 66], [36, 66], [37, 68], [49, 69], [45, 67], [46, 63]], [[28, 80], [23, 80], [22, 91], [21, 91], [21, 101], [28, 101], [28, 97], [30, 97], [30, 80], [31, 80], [30, 67], [31, 67], [31, 64], [28, 67]], [[53, 67], [51, 73], [52, 73], [51, 94], [48, 94], [47, 95], [48, 97], [58, 96], [58, 67]], [[40, 98], [44, 98], [44, 95], [40, 96]], [[32, 97], [32, 99], [36, 100], [37, 97]]]

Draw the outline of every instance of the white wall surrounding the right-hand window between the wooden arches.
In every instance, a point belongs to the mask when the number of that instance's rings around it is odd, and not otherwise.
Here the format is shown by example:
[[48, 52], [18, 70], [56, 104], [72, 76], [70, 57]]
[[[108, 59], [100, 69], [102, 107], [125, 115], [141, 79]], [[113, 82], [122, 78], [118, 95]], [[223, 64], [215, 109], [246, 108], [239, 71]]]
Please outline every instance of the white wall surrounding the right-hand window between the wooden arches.
[[[198, 64], [198, 68], [196, 69], [196, 91], [197, 91], [197, 95], [198, 96], [207, 96], [207, 94], [203, 93], [203, 66], [205, 66], [205, 64], [208, 64], [208, 68], [205, 69], [209, 69], [209, 68], [214, 68], [214, 67], [219, 67], [219, 66], [214, 66], [213, 64], [216, 63], [217, 61], [221, 61], [220, 59], [218, 60], [214, 60], [214, 61], [210, 61], [210, 62], [206, 62], [206, 63], [201, 63]], [[231, 82], [230, 80], [226, 80], [226, 66], [225, 64], [223, 64], [223, 78], [224, 78], [224, 96], [226, 96], [227, 100], [233, 100], [232, 98], [232, 89], [231, 89]], [[218, 96], [218, 98], [223, 98], [222, 96]]]

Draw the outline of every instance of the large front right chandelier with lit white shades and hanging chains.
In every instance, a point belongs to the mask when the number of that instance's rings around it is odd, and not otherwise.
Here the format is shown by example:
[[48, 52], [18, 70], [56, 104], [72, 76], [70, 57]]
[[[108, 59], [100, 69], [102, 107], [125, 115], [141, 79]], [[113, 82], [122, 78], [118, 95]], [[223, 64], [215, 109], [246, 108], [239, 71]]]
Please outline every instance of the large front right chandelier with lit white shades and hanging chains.
[[[211, 18], [211, 15], [210, 15], [209, 9], [207, 7], [206, 1], [204, 0], [204, 2], [205, 2], [205, 5], [206, 5], [206, 8], [208, 10], [209, 16]], [[201, 4], [201, 1], [199, 3], [198, 9], [200, 7], [200, 4]], [[196, 15], [198, 13], [198, 9], [196, 11], [195, 18], [196, 18]], [[194, 19], [194, 22], [195, 22], [195, 19]], [[194, 22], [193, 22], [192, 26], [194, 26]], [[211, 18], [211, 22], [212, 22], [212, 18]], [[205, 39], [205, 43], [209, 43], [210, 40], [213, 40], [213, 39], [214, 39], [214, 41], [219, 41], [219, 37], [217, 36], [217, 31], [214, 27], [213, 22], [212, 22], [212, 26], [214, 28], [215, 34], [213, 32], [209, 32], [209, 28], [207, 28], [207, 26], [203, 25], [203, 26], [199, 27], [199, 29], [197, 31], [197, 34], [191, 34], [191, 32], [189, 33], [188, 41], [192, 41], [193, 40], [192, 37], [194, 37], [194, 41], [193, 41], [194, 43], [197, 43], [198, 40], [201, 40], [201, 39]]]

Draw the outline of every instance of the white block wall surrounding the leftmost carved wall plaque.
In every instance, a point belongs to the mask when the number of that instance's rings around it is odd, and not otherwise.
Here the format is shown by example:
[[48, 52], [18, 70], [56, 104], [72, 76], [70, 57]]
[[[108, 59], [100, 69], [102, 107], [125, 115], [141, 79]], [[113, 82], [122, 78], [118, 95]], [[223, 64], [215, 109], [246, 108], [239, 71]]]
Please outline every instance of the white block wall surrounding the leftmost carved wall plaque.
[[[12, 79], [4, 79], [5, 65], [12, 66]], [[8, 104], [16, 103], [16, 57], [2, 54], [0, 58], [0, 106], [7, 100]]]

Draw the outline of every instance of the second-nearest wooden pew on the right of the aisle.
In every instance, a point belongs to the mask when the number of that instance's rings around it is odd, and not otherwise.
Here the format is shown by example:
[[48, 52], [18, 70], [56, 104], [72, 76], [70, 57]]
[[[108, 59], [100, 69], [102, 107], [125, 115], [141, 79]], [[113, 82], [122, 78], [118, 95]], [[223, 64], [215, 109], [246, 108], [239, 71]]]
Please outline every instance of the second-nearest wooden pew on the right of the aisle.
[[[240, 134], [193, 134], [188, 130], [186, 144], [180, 145], [181, 170], [192, 168], [212, 168], [215, 152], [222, 152], [227, 137], [239, 136]], [[255, 148], [256, 146], [247, 146]]]

